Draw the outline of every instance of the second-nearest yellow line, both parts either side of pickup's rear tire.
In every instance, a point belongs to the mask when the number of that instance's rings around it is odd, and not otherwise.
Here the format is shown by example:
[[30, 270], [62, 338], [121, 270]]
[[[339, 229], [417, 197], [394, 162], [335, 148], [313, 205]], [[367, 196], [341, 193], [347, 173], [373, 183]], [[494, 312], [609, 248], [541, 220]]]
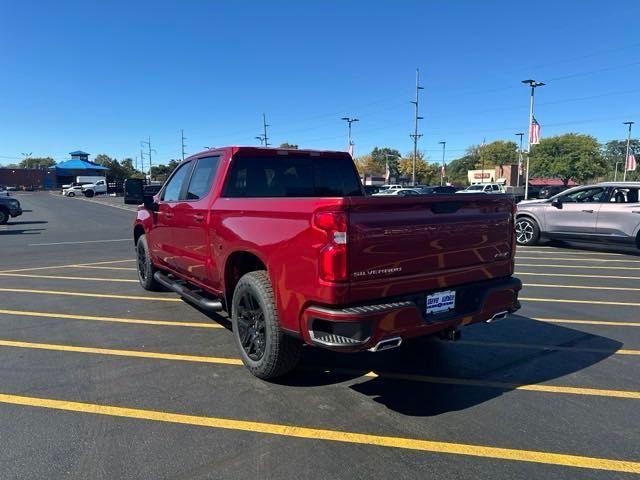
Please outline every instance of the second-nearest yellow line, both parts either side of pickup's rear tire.
[[[242, 361], [239, 358], [221, 358], [221, 357], [207, 357], [207, 356], [194, 356], [194, 355], [179, 355], [179, 354], [167, 354], [158, 352], [142, 352], [139, 350], [115, 350], [106, 348], [95, 347], [80, 347], [75, 345], [59, 345], [59, 344], [46, 344], [46, 343], [32, 343], [32, 342], [17, 342], [11, 340], [0, 340], [0, 346], [13, 347], [13, 348], [29, 348], [36, 350], [50, 350], [59, 352], [75, 352], [75, 353], [89, 353], [98, 355], [115, 355], [120, 357], [136, 357], [136, 358], [152, 358], [159, 360], [177, 360], [186, 362], [199, 362], [199, 363], [211, 363], [219, 365], [242, 365]], [[318, 369], [312, 369], [317, 371]], [[325, 373], [336, 373], [339, 375], [358, 375], [358, 376], [379, 376], [382, 378], [390, 378], [394, 380], [410, 380], [423, 383], [437, 383], [442, 385], [464, 385], [469, 387], [482, 387], [482, 388], [497, 388], [501, 390], [523, 390], [523, 391], [535, 391], [535, 392], [547, 392], [547, 393], [560, 393], [571, 395], [587, 395], [598, 397], [612, 397], [612, 398], [627, 398], [633, 400], [640, 400], [640, 392], [629, 390], [607, 390], [598, 388], [582, 388], [582, 387], [568, 387], [562, 385], [527, 385], [519, 383], [499, 382], [491, 380], [474, 380], [465, 378], [447, 378], [447, 377], [432, 377], [428, 375], [418, 374], [402, 374], [393, 372], [367, 372], [366, 370], [347, 370], [347, 369], [334, 369], [323, 370]]]

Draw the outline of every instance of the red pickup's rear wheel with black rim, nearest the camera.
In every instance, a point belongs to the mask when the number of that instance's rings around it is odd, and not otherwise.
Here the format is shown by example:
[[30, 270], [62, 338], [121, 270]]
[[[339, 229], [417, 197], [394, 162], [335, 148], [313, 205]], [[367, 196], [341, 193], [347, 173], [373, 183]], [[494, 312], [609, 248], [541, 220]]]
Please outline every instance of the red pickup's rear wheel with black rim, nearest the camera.
[[256, 377], [269, 380], [293, 370], [302, 344], [280, 328], [267, 272], [249, 272], [233, 292], [231, 324], [242, 363]]

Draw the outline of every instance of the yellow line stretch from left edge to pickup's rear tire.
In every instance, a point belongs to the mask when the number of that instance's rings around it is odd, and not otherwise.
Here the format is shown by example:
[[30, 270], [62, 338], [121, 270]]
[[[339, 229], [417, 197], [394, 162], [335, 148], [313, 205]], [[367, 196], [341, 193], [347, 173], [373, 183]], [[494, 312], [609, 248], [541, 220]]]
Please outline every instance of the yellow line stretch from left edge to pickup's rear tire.
[[111, 348], [78, 347], [75, 345], [54, 345], [48, 343], [14, 342], [0, 340], [0, 347], [33, 348], [59, 352], [95, 353], [119, 357], [154, 358], [158, 360], [178, 360], [182, 362], [215, 363], [222, 365], [242, 365], [239, 358], [205, 357], [201, 355], [180, 355], [175, 353], [143, 352], [140, 350], [115, 350]]

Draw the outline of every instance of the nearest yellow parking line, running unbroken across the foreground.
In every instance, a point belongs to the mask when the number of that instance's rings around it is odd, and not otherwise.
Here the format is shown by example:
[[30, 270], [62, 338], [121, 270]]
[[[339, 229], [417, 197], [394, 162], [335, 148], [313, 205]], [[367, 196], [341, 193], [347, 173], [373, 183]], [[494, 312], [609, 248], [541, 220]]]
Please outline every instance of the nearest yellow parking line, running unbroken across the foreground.
[[415, 438], [372, 435], [340, 430], [301, 427], [267, 422], [236, 420], [220, 417], [205, 417], [158, 410], [142, 410], [138, 408], [116, 407], [94, 403], [54, 400], [24, 395], [0, 394], [0, 402], [11, 405], [47, 408], [67, 412], [88, 413], [119, 418], [133, 418], [163, 423], [193, 425], [199, 427], [234, 430], [266, 435], [277, 435], [287, 438], [304, 438], [313, 441], [330, 441], [356, 445], [377, 446], [414, 450], [429, 453], [444, 453], [471, 457], [492, 458], [519, 462], [560, 465], [564, 467], [606, 470], [613, 472], [640, 473], [640, 462], [613, 460], [607, 458], [585, 457], [562, 453], [518, 450], [511, 448], [489, 447], [464, 443], [421, 440]]

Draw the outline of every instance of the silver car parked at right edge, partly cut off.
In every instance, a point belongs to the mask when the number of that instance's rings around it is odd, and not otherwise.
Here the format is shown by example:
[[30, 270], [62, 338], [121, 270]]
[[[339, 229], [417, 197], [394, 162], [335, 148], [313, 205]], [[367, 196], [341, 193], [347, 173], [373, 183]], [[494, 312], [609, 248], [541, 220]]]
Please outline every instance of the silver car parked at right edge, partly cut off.
[[546, 200], [524, 201], [516, 213], [518, 245], [540, 238], [621, 242], [640, 248], [640, 182], [574, 187]]

